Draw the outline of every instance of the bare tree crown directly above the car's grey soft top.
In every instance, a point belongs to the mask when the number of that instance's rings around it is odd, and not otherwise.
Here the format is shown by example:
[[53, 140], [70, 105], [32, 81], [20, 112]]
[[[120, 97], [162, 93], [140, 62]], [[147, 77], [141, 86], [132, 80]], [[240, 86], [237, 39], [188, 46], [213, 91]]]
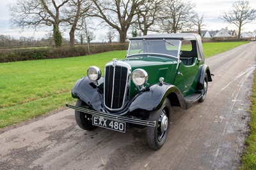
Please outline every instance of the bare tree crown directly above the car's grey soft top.
[[186, 0], [165, 0], [161, 10], [161, 26], [166, 33], [177, 33], [193, 24], [195, 4]]

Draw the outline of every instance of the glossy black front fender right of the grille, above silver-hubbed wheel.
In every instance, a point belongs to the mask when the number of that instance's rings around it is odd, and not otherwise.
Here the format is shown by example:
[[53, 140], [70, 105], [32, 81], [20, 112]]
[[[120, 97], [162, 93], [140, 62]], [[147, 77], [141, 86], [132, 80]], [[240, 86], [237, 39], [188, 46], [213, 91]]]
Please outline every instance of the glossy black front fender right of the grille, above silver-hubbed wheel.
[[[134, 97], [129, 105], [129, 111], [134, 111], [136, 109], [156, 111], [161, 107], [164, 99], [170, 97], [171, 93], [175, 93], [177, 96], [180, 107], [186, 109], [187, 102], [176, 86], [171, 84], [154, 84], [153, 86], [150, 86], [147, 91], [143, 91]], [[172, 99], [170, 98], [170, 100]]]

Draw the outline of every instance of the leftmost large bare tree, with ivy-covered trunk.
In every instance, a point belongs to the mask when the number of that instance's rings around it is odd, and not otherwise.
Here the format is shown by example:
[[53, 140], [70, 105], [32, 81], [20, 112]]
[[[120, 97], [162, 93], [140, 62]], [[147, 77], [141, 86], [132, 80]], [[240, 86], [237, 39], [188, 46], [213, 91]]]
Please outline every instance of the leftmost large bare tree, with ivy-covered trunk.
[[19, 27], [22, 30], [32, 27], [36, 31], [38, 27], [52, 26], [54, 42], [56, 47], [59, 47], [62, 39], [60, 23], [70, 19], [61, 17], [61, 10], [67, 8], [65, 5], [68, 1], [70, 0], [17, 0], [17, 3], [9, 4], [10, 22], [13, 27]]

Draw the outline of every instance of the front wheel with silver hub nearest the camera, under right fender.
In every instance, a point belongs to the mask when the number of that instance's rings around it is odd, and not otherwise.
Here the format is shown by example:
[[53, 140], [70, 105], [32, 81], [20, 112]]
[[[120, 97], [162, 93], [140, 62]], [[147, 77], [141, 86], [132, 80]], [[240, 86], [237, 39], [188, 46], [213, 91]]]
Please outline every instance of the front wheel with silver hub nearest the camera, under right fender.
[[150, 112], [149, 121], [156, 121], [156, 127], [147, 127], [148, 146], [153, 150], [159, 150], [166, 141], [171, 118], [170, 100], [166, 98], [162, 107], [157, 111]]

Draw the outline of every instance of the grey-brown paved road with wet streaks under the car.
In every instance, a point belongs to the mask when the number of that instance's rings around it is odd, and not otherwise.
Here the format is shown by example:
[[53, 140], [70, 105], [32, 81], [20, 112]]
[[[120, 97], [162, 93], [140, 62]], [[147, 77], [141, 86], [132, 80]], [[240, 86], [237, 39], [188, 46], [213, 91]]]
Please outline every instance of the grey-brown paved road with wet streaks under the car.
[[148, 149], [145, 129], [81, 130], [66, 109], [0, 130], [0, 169], [237, 169], [248, 127], [256, 43], [206, 60], [205, 102], [173, 107], [168, 139]]

